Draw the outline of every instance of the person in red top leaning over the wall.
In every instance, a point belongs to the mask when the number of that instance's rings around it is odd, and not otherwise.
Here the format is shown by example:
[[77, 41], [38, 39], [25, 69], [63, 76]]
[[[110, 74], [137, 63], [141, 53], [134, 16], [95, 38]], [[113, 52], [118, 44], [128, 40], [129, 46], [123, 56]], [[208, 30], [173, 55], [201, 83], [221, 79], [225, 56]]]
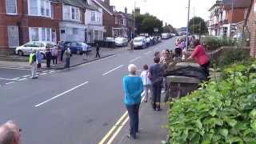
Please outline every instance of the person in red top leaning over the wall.
[[206, 54], [205, 47], [202, 46], [198, 39], [194, 40], [195, 49], [191, 54], [189, 59], [194, 59], [198, 64], [202, 67], [202, 70], [207, 74], [209, 77], [209, 66], [210, 66], [210, 57]]

